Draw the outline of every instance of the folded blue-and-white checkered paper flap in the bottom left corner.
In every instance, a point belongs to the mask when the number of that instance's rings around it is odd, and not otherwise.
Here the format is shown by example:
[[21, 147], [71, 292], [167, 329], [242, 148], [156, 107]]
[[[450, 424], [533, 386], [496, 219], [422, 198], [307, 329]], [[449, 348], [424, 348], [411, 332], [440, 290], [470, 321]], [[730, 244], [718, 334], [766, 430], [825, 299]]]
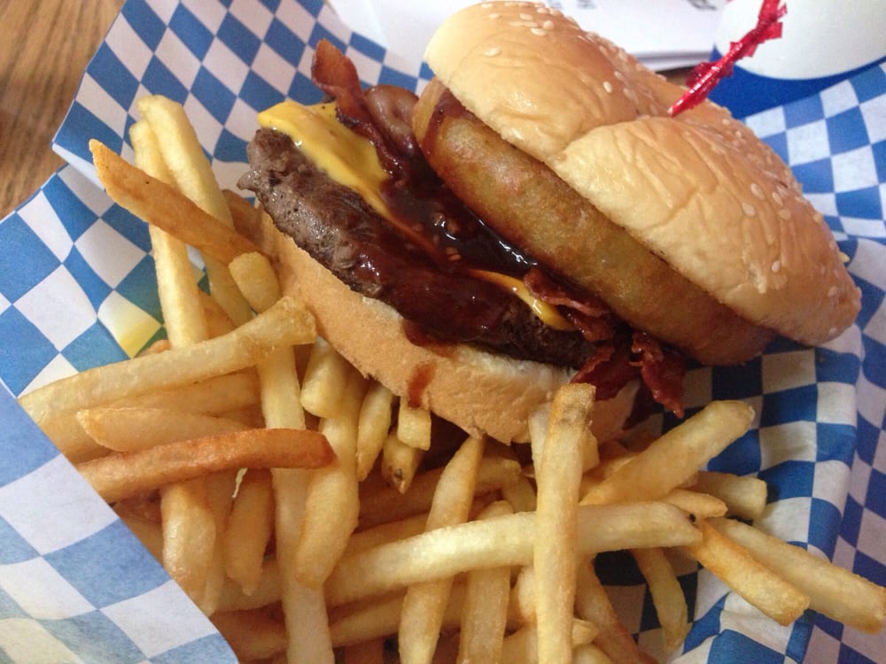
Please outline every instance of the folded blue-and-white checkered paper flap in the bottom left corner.
[[0, 661], [236, 661], [2, 387], [0, 420]]

